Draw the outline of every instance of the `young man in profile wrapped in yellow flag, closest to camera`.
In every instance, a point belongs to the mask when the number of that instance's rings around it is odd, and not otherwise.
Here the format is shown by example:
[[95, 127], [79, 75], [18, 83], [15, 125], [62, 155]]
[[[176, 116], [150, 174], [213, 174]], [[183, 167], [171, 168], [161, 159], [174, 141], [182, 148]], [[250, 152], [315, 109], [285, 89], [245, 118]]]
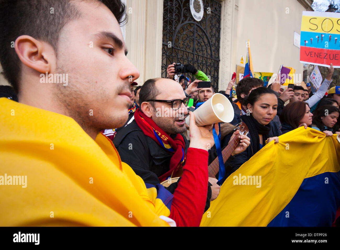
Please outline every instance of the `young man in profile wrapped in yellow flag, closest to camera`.
[[[0, 1], [0, 62], [19, 99], [0, 99], [0, 226], [199, 226], [205, 199], [184, 208], [147, 188], [99, 133], [127, 120], [139, 77], [124, 13], [120, 0]], [[191, 117], [183, 174], [200, 171], [194, 188], [207, 184], [214, 139]], [[193, 204], [191, 191], [177, 197]]]

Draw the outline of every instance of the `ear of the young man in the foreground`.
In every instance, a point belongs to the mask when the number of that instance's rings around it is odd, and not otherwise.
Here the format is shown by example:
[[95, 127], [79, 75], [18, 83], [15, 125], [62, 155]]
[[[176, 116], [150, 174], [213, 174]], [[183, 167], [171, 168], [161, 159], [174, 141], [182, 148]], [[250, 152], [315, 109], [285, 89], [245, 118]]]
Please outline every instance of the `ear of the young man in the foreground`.
[[31, 36], [22, 35], [15, 40], [15, 52], [20, 61], [29, 68], [40, 73], [51, 71], [54, 52], [51, 45], [38, 41]]

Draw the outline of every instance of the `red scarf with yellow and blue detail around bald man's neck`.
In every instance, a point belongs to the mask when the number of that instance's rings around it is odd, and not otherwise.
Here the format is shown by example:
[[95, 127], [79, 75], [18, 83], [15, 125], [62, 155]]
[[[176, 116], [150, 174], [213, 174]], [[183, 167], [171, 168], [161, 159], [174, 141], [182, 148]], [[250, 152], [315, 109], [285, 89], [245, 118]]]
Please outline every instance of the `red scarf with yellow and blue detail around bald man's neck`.
[[143, 133], [156, 141], [156, 143], [172, 154], [170, 160], [170, 170], [158, 177], [159, 181], [165, 181], [169, 176], [181, 176], [183, 163], [185, 161], [185, 142], [181, 134], [176, 134], [176, 137], [172, 139], [167, 133], [159, 128], [156, 123], [139, 109], [135, 112], [135, 120], [138, 127]]

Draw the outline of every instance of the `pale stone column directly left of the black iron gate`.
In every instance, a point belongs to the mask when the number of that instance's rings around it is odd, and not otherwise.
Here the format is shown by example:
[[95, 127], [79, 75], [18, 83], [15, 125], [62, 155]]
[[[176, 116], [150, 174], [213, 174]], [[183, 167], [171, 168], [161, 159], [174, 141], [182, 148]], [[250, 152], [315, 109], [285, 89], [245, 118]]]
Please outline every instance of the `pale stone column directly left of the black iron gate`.
[[147, 79], [161, 76], [163, 0], [126, 0], [126, 13], [128, 58], [139, 70], [136, 82], [142, 85]]

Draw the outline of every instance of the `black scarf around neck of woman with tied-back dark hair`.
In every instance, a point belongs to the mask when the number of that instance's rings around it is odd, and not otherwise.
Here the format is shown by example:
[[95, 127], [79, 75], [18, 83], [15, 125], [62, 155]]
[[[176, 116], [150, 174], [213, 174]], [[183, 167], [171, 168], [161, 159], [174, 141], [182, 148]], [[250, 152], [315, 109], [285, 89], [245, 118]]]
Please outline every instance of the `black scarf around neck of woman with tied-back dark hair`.
[[[271, 130], [271, 124], [268, 123], [266, 126], [261, 125], [252, 114], [250, 115], [242, 115], [241, 120], [245, 122], [249, 129], [250, 139], [253, 141], [252, 149], [253, 155], [260, 150], [260, 137], [259, 134], [262, 135], [263, 144], [268, 139], [268, 134]], [[263, 145], [264, 146], [264, 145]]]

